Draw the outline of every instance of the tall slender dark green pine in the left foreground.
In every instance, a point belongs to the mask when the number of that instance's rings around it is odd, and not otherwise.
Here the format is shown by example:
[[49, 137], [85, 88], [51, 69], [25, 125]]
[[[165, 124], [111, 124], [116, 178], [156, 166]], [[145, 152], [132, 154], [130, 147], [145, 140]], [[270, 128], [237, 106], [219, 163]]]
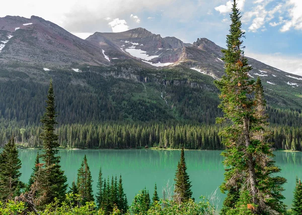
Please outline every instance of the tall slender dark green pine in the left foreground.
[[65, 198], [65, 193], [68, 184], [67, 178], [64, 175], [64, 171], [61, 170], [60, 157], [56, 156], [58, 153], [57, 148], [59, 147], [59, 143], [57, 142], [58, 136], [54, 134], [54, 126], [57, 124], [56, 117], [57, 113], [55, 112], [55, 104], [54, 104], [54, 92], [52, 87], [52, 80], [49, 83], [49, 89], [46, 100], [45, 113], [41, 117], [42, 133], [40, 138], [43, 141], [43, 153], [41, 154], [41, 158], [44, 161], [44, 170], [41, 171], [43, 175], [41, 175], [41, 187], [43, 187], [44, 191], [43, 195], [44, 204], [51, 203], [54, 198], [57, 198], [59, 202]]

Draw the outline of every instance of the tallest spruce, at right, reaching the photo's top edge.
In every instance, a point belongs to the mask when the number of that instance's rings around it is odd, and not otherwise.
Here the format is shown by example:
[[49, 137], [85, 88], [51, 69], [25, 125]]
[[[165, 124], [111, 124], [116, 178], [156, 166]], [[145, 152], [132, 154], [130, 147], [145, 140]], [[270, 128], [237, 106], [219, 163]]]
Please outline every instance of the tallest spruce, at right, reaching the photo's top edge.
[[[222, 143], [225, 145], [224, 165], [228, 167], [224, 173], [224, 182], [220, 186], [221, 191], [228, 191], [224, 203], [224, 214], [235, 214], [249, 206], [251, 213], [271, 214], [272, 212], [283, 212], [283, 206], [274, 207], [270, 202], [276, 204], [282, 197], [278, 198], [281, 186], [274, 189], [278, 184], [272, 173], [279, 172], [271, 162], [272, 152], [270, 144], [260, 138], [261, 131], [264, 131], [264, 110], [257, 110], [263, 103], [253, 98], [255, 84], [249, 80], [248, 72], [252, 69], [244, 57], [243, 38], [241, 30], [241, 16], [234, 0], [230, 34], [226, 36], [226, 50], [224, 53], [225, 75], [221, 80], [215, 81], [220, 89], [219, 104], [224, 116], [218, 118], [217, 123], [231, 121], [232, 125], [226, 127], [221, 135]], [[264, 101], [264, 98], [262, 99]], [[261, 162], [265, 160], [261, 168]], [[270, 170], [266, 171], [269, 166]], [[264, 170], [266, 172], [264, 172]], [[279, 178], [278, 178], [279, 179]], [[284, 180], [281, 179], [282, 183]], [[268, 184], [265, 184], [268, 182]], [[239, 195], [239, 196], [238, 196]], [[230, 204], [230, 199], [233, 201]], [[237, 200], [237, 201], [236, 201]], [[230, 207], [231, 206], [231, 207]], [[228, 209], [229, 208], [229, 209]], [[242, 210], [241, 210], [242, 209]]]

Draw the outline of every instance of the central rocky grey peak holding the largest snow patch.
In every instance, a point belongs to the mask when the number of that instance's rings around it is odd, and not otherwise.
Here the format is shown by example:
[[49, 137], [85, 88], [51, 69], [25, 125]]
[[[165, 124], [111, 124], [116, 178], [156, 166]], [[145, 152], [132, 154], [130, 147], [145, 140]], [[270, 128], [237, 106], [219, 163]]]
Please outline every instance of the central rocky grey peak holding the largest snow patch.
[[143, 28], [121, 33], [97, 32], [86, 40], [104, 49], [110, 59], [133, 58], [156, 67], [176, 62], [184, 47], [183, 42], [175, 37], [162, 38]]

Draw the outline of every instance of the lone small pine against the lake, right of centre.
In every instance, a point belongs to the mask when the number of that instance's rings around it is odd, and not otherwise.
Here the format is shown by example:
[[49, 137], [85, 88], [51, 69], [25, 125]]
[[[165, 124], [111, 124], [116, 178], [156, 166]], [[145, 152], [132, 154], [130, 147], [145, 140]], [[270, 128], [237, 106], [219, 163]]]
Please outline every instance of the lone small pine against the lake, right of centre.
[[179, 202], [188, 201], [192, 198], [191, 182], [187, 173], [187, 166], [185, 161], [184, 147], [181, 149], [180, 161], [177, 165], [175, 173], [175, 188], [174, 188], [174, 199]]

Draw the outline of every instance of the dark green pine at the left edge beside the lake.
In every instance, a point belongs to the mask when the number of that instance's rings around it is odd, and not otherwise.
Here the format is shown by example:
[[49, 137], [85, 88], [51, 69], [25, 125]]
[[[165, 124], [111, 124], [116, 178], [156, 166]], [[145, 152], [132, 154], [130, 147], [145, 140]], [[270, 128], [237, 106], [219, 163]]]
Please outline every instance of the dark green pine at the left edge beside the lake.
[[[12, 137], [0, 154], [0, 200], [13, 199], [20, 192], [21, 160], [18, 157], [18, 149]], [[19, 189], [19, 190], [18, 190]]]

